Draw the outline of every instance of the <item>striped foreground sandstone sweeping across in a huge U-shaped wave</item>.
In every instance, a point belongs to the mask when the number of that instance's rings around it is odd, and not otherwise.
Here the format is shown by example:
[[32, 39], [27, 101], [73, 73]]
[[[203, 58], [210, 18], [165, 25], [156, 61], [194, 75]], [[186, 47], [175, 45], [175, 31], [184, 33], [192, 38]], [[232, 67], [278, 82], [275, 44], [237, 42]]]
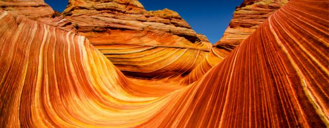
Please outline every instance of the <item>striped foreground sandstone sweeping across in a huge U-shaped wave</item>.
[[86, 37], [0, 11], [0, 126], [328, 127], [328, 6], [289, 1], [188, 86], [127, 78]]

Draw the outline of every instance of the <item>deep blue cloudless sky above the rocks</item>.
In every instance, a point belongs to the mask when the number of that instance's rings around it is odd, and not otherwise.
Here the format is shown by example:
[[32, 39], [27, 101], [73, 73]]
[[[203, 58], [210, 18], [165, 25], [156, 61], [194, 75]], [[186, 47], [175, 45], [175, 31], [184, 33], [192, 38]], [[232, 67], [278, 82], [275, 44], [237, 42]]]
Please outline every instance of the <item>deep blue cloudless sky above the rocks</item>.
[[[45, 0], [54, 10], [62, 12], [68, 0]], [[139, 0], [146, 10], [168, 8], [179, 13], [197, 33], [210, 42], [218, 41], [227, 28], [236, 6], [243, 0]]]

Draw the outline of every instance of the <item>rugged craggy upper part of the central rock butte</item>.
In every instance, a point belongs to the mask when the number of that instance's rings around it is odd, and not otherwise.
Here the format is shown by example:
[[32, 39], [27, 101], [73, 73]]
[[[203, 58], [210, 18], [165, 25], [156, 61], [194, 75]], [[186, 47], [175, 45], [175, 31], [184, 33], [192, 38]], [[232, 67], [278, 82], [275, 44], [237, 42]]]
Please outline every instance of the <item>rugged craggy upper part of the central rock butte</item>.
[[[70, 0], [63, 15], [87, 38], [94, 37], [88, 32], [111, 34], [112, 30], [135, 30], [170, 33], [195, 44], [205, 41], [204, 38], [199, 39], [177, 12], [169, 9], [147, 11], [137, 0]], [[207, 48], [207, 43], [206, 39], [199, 47]]]

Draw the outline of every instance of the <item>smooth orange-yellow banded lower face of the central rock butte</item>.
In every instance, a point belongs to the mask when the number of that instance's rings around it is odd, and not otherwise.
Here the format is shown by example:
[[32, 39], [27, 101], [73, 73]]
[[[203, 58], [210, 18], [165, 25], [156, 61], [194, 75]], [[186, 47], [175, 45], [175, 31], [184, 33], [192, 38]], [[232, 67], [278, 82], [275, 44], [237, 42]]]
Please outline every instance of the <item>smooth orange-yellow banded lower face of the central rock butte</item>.
[[160, 80], [180, 79], [189, 74], [209, 49], [170, 33], [112, 30], [111, 34], [89, 32], [90, 43], [125, 75]]

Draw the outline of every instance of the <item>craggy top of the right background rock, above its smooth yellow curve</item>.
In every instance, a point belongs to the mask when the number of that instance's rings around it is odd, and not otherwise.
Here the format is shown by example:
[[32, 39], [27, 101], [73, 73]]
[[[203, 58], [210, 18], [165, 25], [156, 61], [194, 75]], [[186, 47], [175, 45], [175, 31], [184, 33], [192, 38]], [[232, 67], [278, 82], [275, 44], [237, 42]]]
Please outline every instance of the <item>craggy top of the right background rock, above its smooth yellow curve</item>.
[[287, 2], [288, 0], [245, 0], [236, 7], [229, 26], [216, 45], [239, 45]]

